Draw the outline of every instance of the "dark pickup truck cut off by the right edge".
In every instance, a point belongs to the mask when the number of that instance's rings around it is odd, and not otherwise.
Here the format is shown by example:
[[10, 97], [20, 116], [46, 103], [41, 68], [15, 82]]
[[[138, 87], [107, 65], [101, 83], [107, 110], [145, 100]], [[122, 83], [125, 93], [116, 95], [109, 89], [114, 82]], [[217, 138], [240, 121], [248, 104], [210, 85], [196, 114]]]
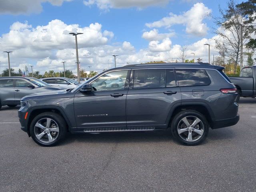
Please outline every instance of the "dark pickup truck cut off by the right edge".
[[256, 66], [242, 68], [239, 77], [229, 77], [242, 97], [256, 97]]

